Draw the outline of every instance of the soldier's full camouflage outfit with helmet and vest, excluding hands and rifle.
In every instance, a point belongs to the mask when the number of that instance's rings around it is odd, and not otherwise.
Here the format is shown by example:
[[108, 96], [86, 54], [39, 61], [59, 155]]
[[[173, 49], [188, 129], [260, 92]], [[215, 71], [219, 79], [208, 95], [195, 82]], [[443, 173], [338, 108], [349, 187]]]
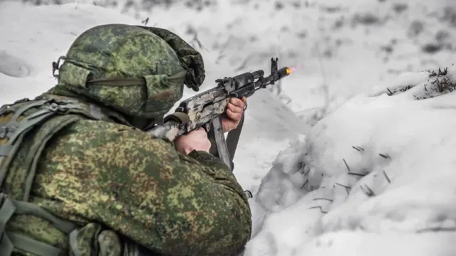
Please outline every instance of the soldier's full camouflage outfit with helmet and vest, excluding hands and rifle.
[[115, 24], [64, 60], [58, 85], [0, 110], [0, 255], [242, 250], [251, 213], [228, 167], [141, 130], [184, 83], [197, 90], [201, 55], [170, 31]]

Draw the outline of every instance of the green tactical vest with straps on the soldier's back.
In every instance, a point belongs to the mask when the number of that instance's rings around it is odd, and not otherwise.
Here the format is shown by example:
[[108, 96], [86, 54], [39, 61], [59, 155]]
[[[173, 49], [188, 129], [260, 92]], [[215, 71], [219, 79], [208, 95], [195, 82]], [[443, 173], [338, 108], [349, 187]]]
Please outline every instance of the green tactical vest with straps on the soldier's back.
[[[62, 220], [40, 206], [28, 202], [39, 156], [46, 143], [64, 127], [80, 119], [113, 122], [113, 118], [128, 124], [115, 112], [68, 97], [46, 96], [38, 100], [19, 100], [0, 107], [0, 252], [13, 254], [16, 249], [31, 255], [58, 256], [65, 252], [58, 247], [33, 240], [14, 231], [6, 231], [6, 224], [14, 215], [32, 215], [47, 220], [56, 230], [68, 235], [71, 255], [80, 255], [76, 236], [78, 225]], [[21, 157], [19, 157], [21, 156]], [[18, 161], [19, 164], [18, 164]], [[5, 188], [5, 178], [13, 171], [13, 186]], [[19, 168], [17, 167], [19, 166]]]

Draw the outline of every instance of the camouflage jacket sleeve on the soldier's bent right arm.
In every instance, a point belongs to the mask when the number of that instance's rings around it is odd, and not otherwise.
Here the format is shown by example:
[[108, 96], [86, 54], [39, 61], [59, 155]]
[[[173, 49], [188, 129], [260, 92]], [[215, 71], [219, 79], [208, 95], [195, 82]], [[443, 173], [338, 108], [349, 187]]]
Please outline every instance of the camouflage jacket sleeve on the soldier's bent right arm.
[[63, 218], [100, 222], [160, 255], [232, 255], [251, 232], [247, 198], [222, 161], [184, 156], [120, 124], [83, 120], [48, 145], [34, 191]]

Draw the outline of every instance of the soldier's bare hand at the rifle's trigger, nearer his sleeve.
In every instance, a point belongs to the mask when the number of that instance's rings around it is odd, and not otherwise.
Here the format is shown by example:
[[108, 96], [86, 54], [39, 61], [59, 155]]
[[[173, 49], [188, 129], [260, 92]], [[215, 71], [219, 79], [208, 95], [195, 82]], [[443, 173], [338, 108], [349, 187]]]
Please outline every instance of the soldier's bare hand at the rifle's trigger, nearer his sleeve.
[[195, 129], [188, 134], [177, 137], [174, 141], [177, 151], [182, 154], [190, 154], [191, 151], [206, 151], [209, 153], [211, 142], [207, 139], [207, 133], [204, 129]]

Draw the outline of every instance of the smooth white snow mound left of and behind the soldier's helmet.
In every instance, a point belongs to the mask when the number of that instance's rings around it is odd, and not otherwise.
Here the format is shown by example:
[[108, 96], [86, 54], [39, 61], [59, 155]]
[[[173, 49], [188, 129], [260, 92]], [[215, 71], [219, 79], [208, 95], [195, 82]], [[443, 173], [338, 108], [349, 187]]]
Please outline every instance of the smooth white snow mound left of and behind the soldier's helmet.
[[[97, 12], [105, 15], [95, 15]], [[19, 14], [26, 18], [16, 18]], [[62, 21], [66, 21], [64, 26]], [[97, 6], [24, 8], [19, 2], [1, 3], [0, 104], [34, 97], [55, 85], [51, 63], [66, 54], [76, 36], [100, 23], [138, 21]]]

